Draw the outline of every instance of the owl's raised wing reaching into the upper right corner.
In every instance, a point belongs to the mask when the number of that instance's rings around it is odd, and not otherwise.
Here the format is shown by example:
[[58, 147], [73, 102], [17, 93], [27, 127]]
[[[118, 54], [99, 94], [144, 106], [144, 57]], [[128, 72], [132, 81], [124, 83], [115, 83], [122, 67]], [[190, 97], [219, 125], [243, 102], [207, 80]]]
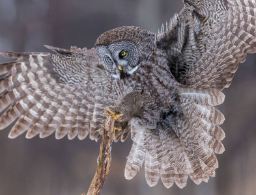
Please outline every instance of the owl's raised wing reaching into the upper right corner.
[[231, 84], [238, 62], [256, 52], [256, 3], [245, 0], [184, 0], [184, 8], [158, 33], [171, 72], [191, 88]]

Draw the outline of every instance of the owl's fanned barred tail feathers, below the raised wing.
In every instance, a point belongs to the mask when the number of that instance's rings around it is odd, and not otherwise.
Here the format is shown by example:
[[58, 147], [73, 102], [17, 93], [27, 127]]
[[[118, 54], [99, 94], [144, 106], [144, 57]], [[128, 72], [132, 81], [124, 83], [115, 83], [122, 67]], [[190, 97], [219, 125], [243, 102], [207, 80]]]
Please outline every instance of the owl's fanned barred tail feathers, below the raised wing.
[[214, 153], [225, 150], [221, 143], [225, 133], [219, 126], [224, 116], [213, 106], [223, 103], [224, 95], [215, 89], [181, 88], [178, 96], [182, 116], [169, 115], [156, 129], [131, 121], [134, 143], [126, 162], [126, 179], [132, 179], [143, 163], [150, 186], [161, 178], [167, 188], [173, 183], [183, 188], [188, 177], [199, 184], [215, 175]]

